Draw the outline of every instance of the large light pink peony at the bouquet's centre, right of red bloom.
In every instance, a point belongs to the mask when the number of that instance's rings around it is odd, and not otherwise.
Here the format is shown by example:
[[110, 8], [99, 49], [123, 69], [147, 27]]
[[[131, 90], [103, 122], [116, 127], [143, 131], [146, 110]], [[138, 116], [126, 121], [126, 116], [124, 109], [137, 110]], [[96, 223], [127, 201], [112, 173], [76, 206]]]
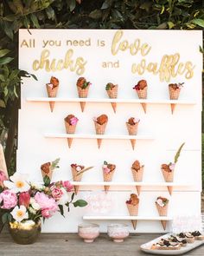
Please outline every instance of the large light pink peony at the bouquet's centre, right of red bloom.
[[43, 192], [37, 192], [35, 194], [35, 201], [41, 207], [41, 211], [48, 211], [48, 214], [46, 215], [49, 215], [49, 217], [51, 217], [59, 209], [54, 198], [48, 197], [48, 195], [44, 194]]

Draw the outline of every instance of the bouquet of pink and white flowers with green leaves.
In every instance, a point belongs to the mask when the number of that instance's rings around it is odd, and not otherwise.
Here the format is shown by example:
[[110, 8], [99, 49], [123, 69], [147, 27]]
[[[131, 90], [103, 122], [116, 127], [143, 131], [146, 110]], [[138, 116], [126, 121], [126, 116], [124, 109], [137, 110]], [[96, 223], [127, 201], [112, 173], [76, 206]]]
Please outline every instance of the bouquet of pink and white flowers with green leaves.
[[0, 172], [0, 213], [3, 224], [10, 222], [10, 226], [19, 228], [22, 225], [36, 225], [41, 218], [51, 218], [54, 213], [73, 207], [85, 207], [85, 200], [74, 199], [73, 185], [70, 181], [50, 182], [44, 176], [42, 183], [29, 181], [27, 174], [14, 174], [10, 180]]

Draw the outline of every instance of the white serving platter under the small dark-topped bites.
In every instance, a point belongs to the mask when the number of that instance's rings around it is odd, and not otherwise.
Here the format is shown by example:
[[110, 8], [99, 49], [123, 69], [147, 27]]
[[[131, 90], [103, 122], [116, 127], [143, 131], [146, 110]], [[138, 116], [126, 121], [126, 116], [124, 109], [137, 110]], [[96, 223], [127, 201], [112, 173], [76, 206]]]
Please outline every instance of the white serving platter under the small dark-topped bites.
[[151, 246], [158, 242], [159, 240], [167, 239], [172, 233], [164, 234], [163, 236], [160, 236], [156, 238], [155, 240], [151, 240], [148, 243], [143, 244], [140, 246], [140, 249], [144, 253], [150, 253], [150, 254], [156, 254], [156, 255], [181, 255], [184, 253], [188, 253], [189, 251], [193, 250], [194, 248], [201, 246], [204, 244], [204, 240], [194, 240], [194, 243], [187, 244], [185, 247], [181, 247], [179, 250], [152, 250]]

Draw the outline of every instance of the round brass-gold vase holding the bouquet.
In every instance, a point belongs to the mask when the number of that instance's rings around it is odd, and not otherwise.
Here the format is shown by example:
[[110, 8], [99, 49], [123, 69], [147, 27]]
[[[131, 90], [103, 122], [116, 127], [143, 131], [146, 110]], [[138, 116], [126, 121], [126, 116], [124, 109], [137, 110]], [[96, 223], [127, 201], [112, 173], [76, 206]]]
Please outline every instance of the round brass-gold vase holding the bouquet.
[[9, 231], [12, 239], [16, 242], [16, 244], [33, 244], [41, 233], [41, 221], [32, 225], [10, 222]]

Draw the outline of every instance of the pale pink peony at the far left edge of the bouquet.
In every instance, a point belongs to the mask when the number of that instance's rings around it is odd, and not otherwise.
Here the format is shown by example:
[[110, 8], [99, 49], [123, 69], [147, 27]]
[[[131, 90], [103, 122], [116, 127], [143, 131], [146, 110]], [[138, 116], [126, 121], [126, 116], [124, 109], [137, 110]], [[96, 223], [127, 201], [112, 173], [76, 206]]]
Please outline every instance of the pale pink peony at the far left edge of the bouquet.
[[11, 192], [9, 189], [3, 191], [0, 194], [0, 203], [3, 202], [2, 209], [11, 209], [17, 205], [17, 196], [15, 193]]

